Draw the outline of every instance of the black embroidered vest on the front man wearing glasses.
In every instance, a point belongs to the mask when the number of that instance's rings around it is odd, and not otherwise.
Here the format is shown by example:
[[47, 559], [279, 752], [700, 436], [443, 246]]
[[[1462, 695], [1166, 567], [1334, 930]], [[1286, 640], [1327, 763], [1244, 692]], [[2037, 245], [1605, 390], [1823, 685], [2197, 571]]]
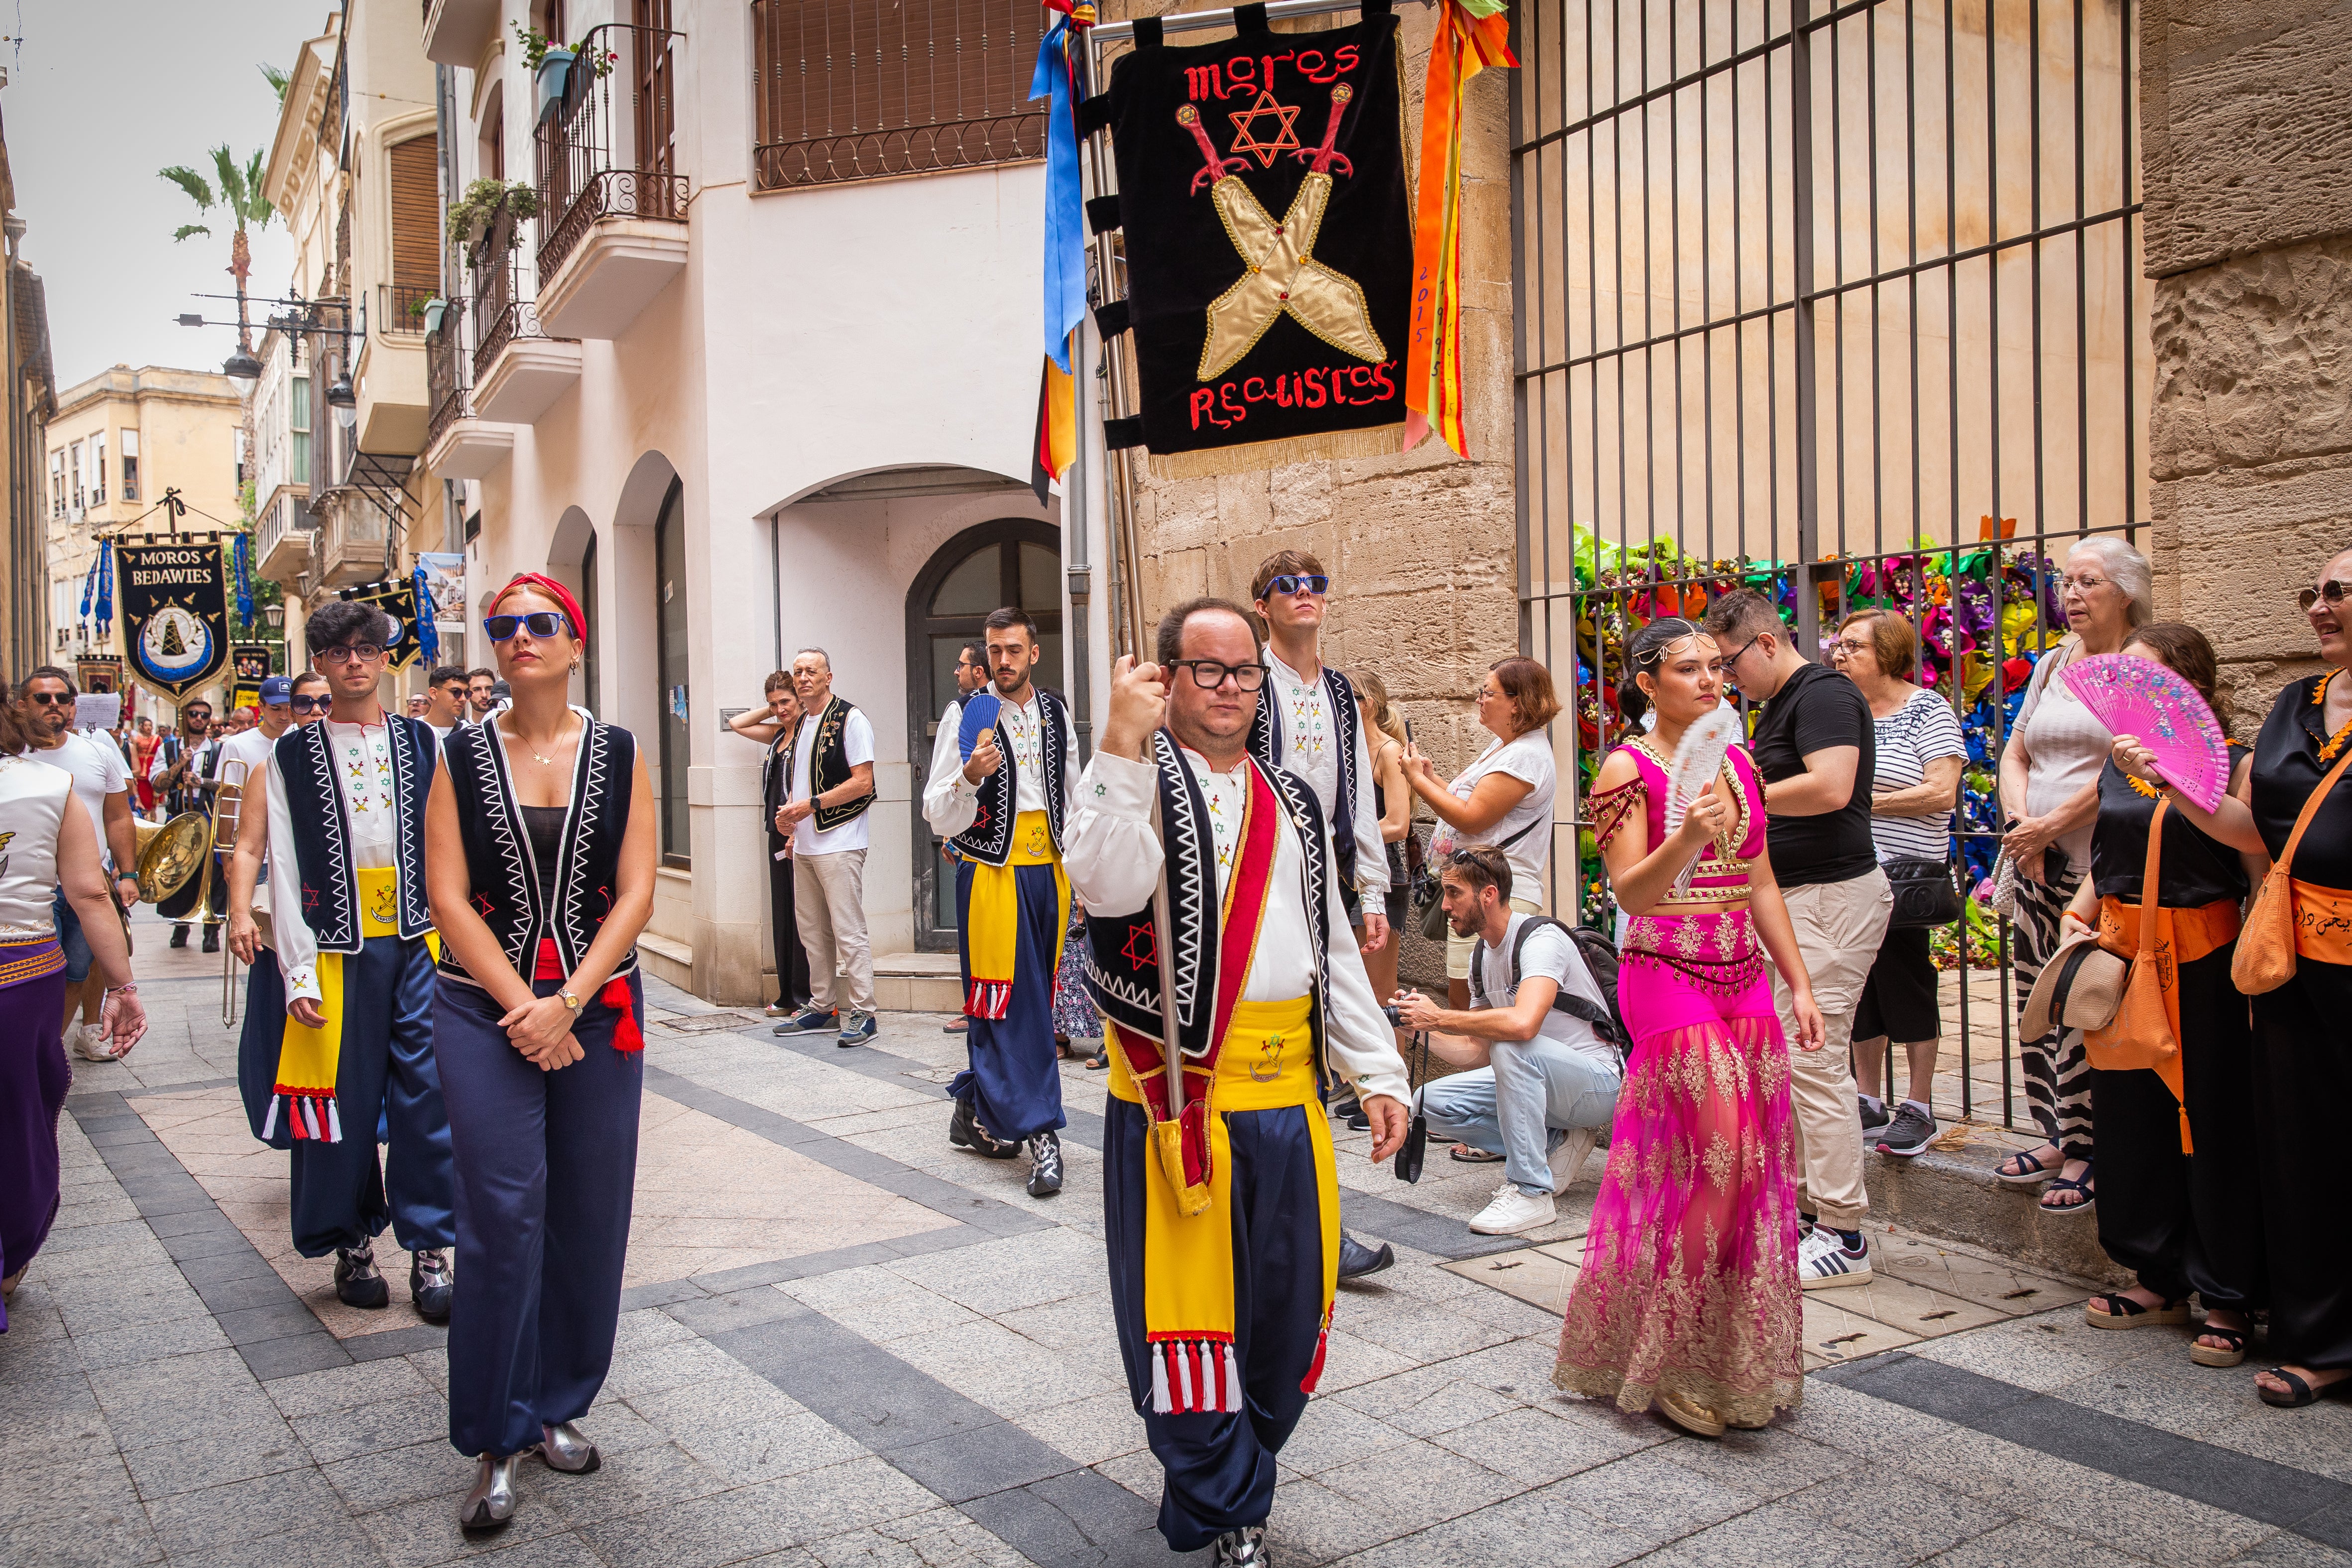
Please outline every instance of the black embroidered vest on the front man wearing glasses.
[[[1103, 1016], [1129, 1034], [1162, 1039], [1160, 1023], [1160, 950], [1171, 943], [1176, 976], [1176, 1034], [1183, 1053], [1200, 1058], [1214, 1044], [1209, 1027], [1216, 1016], [1218, 910], [1216, 835], [1209, 827], [1209, 802], [1185, 766], [1169, 731], [1152, 733], [1152, 764], [1160, 790], [1160, 842], [1169, 879], [1171, 933], [1155, 929], [1150, 905], [1134, 914], [1096, 917], [1087, 912], [1087, 994]], [[1308, 780], [1287, 769], [1258, 764], [1275, 799], [1289, 816], [1305, 865], [1308, 940], [1315, 947], [1315, 997], [1310, 1023], [1315, 1048], [1324, 1039], [1324, 999], [1331, 992], [1331, 907], [1324, 870], [1322, 806]], [[1279, 856], [1279, 849], [1277, 849]], [[1279, 875], [1279, 872], [1275, 872]]]

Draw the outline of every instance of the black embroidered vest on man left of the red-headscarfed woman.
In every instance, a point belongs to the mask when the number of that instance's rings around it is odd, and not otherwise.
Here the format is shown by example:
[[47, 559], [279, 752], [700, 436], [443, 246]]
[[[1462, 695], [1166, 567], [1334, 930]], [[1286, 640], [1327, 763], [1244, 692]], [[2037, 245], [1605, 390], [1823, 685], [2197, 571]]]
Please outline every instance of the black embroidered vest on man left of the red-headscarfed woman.
[[[393, 752], [393, 884], [400, 936], [414, 940], [433, 929], [426, 903], [426, 795], [440, 745], [433, 731], [397, 712], [383, 715]], [[360, 952], [360, 877], [350, 863], [350, 806], [334, 783], [334, 745], [327, 722], [296, 724], [273, 748], [285, 778], [287, 820], [294, 825], [296, 910], [320, 952]], [[278, 893], [278, 919], [285, 896]]]

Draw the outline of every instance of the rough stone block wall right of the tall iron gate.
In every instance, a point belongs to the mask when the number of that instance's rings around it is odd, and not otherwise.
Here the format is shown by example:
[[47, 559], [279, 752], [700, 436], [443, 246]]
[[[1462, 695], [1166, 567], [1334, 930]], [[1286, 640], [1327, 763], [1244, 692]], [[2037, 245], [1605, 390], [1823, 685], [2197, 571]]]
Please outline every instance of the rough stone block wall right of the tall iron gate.
[[2319, 668], [2293, 590], [2352, 545], [2352, 5], [2140, 14], [2157, 607], [2251, 731]]

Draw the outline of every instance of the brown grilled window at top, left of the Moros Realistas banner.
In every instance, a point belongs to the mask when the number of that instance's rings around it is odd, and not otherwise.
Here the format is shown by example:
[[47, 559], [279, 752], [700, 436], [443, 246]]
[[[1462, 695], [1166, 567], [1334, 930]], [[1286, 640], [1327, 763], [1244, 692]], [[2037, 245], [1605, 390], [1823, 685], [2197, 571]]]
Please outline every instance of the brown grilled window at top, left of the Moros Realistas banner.
[[750, 0], [750, 19], [760, 190], [1044, 158], [1035, 0]]

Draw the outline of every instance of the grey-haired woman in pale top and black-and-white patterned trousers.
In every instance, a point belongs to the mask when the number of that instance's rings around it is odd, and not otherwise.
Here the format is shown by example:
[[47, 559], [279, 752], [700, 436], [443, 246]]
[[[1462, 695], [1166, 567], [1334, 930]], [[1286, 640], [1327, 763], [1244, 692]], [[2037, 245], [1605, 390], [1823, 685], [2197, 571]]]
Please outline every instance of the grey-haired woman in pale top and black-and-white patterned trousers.
[[[2154, 614], [2147, 557], [2122, 538], [2077, 543], [2058, 581], [2067, 635], [2034, 665], [2002, 752], [2002, 856], [2016, 870], [2018, 907], [2011, 922], [2020, 1018], [2042, 966], [2058, 950], [2058, 922], [2091, 867], [2098, 771], [2112, 741], [2058, 672], [2077, 658], [2122, 651], [2131, 628]], [[2042, 1194], [2046, 1213], [2089, 1213], [2098, 1192], [2091, 1178], [2091, 1063], [2082, 1030], [2020, 1039], [2018, 1056], [2025, 1060], [2025, 1103], [2044, 1143], [2011, 1154], [1994, 1175], [2013, 1187], [2049, 1182]]]

